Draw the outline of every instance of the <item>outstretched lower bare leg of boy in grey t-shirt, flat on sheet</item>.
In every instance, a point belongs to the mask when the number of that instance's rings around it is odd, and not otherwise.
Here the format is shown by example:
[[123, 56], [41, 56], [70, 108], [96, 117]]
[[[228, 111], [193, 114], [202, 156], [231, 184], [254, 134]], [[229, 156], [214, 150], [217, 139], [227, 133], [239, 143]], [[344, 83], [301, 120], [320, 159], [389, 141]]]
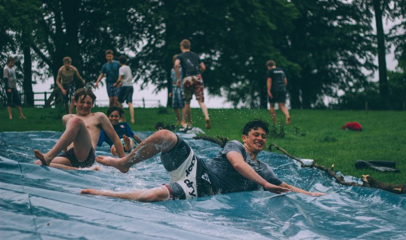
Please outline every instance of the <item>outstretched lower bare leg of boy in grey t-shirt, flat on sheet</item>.
[[169, 193], [163, 186], [145, 190], [132, 190], [127, 192], [114, 192], [110, 190], [84, 189], [80, 193], [93, 194], [108, 197], [118, 197], [123, 199], [136, 200], [141, 202], [154, 202], [169, 200]]

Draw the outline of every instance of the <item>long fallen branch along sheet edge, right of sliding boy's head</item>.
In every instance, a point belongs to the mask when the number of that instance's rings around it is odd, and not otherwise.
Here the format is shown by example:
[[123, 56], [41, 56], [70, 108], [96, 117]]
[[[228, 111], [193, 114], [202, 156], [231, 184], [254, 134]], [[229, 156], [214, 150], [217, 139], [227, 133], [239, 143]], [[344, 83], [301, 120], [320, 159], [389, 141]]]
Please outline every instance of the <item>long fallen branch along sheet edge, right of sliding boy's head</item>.
[[379, 181], [375, 180], [374, 178], [372, 178], [368, 175], [362, 175], [362, 182], [363, 182], [362, 185], [355, 183], [355, 182], [346, 182], [344, 180], [343, 176], [338, 176], [334, 172], [334, 170], [333, 170], [334, 164], [330, 168], [317, 164], [316, 160], [314, 160], [311, 164], [304, 164], [304, 162], [300, 158], [292, 156], [285, 149], [278, 147], [276, 144], [269, 145], [269, 151], [272, 152], [272, 146], [274, 146], [277, 150], [283, 152], [286, 156], [298, 161], [302, 167], [316, 167], [316, 168], [323, 170], [324, 172], [328, 173], [331, 177], [333, 177], [335, 179], [335, 181], [337, 181], [337, 183], [340, 183], [342, 185], [379, 188], [379, 189], [393, 192], [396, 194], [406, 193], [406, 183], [404, 183], [404, 184], [383, 183], [383, 182], [379, 182]]

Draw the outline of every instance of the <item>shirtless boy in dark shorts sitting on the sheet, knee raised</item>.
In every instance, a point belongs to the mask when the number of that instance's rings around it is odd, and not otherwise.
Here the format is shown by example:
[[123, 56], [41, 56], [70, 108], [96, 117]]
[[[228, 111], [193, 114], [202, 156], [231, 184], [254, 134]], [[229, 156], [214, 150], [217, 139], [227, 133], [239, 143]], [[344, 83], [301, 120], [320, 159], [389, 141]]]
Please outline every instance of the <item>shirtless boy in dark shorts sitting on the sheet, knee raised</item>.
[[[92, 166], [95, 159], [94, 151], [101, 129], [113, 141], [118, 155], [124, 157], [123, 145], [107, 116], [100, 112], [91, 113], [96, 99], [91, 89], [78, 89], [75, 92], [74, 99], [76, 115], [67, 114], [62, 117], [66, 129], [49, 152], [43, 154], [39, 150], [34, 150], [36, 158], [39, 159], [35, 164], [63, 169], [79, 169]], [[65, 152], [58, 155], [62, 150], [65, 150]]]

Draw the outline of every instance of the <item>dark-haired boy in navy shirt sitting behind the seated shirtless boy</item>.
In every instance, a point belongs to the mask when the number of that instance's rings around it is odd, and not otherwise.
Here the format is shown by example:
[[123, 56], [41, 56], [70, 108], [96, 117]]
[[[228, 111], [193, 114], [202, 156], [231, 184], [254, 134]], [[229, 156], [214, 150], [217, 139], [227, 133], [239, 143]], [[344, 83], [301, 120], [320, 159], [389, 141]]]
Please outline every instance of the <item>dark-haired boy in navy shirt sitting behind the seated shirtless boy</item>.
[[[142, 142], [142, 139], [131, 130], [130, 126], [126, 122], [120, 122], [123, 114], [124, 110], [116, 106], [112, 106], [107, 110], [107, 117], [120, 138], [124, 151], [130, 152], [132, 149], [137, 147], [137, 143]], [[103, 142], [106, 142], [110, 146], [111, 154], [118, 156], [116, 147], [113, 145], [113, 141], [111, 141], [104, 130], [101, 130], [97, 146], [101, 146]]]

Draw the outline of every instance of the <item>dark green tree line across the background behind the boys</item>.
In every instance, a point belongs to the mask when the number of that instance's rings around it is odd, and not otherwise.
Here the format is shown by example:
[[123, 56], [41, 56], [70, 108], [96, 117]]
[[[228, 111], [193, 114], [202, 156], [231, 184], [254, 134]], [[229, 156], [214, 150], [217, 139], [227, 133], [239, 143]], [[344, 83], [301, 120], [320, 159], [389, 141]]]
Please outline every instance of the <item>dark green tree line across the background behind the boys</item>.
[[[136, 81], [159, 91], [189, 39], [207, 66], [206, 88], [234, 106], [266, 108], [265, 62], [274, 59], [292, 108], [325, 108], [328, 96], [333, 108], [404, 109], [405, 16], [406, 2], [389, 0], [1, 0], [0, 64], [16, 57], [28, 106], [32, 84], [55, 81], [64, 56], [95, 82], [106, 49], [126, 54]], [[387, 34], [385, 20], [395, 23]], [[398, 66], [388, 73], [390, 48]]]

